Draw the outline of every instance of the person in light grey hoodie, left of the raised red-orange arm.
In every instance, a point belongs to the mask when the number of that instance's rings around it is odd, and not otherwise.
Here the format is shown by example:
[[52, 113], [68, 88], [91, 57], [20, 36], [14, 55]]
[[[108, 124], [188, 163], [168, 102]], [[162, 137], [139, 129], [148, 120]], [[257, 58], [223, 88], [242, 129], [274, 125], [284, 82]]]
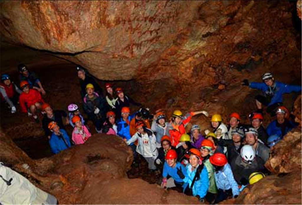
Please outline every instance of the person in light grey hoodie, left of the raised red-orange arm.
[[166, 116], [162, 112], [156, 113], [154, 115], [151, 130], [156, 133], [156, 148], [161, 148], [161, 139], [162, 136], [170, 136], [169, 133], [169, 123], [166, 122]]

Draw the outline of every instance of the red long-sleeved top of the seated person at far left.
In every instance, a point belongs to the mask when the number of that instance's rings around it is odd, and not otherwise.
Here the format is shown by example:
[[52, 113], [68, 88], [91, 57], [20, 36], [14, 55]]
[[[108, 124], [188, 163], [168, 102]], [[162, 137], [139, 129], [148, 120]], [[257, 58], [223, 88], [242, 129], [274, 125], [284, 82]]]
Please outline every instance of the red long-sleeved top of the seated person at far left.
[[36, 102], [44, 102], [41, 94], [35, 89], [29, 89], [28, 93], [22, 92], [19, 96], [21, 112], [27, 112], [27, 108]]

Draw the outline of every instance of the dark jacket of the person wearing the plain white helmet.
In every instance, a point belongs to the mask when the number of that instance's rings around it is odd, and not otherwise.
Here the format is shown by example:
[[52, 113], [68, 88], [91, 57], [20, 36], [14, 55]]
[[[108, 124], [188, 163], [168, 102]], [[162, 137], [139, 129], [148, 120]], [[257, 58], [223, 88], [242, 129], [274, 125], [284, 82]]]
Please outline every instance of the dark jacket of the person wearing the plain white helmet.
[[257, 155], [255, 160], [250, 165], [243, 162], [241, 156], [238, 155], [235, 159], [233, 159], [231, 168], [237, 183], [239, 185], [246, 185], [249, 183], [249, 175], [251, 175], [253, 172], [265, 172], [263, 164], [263, 160]]

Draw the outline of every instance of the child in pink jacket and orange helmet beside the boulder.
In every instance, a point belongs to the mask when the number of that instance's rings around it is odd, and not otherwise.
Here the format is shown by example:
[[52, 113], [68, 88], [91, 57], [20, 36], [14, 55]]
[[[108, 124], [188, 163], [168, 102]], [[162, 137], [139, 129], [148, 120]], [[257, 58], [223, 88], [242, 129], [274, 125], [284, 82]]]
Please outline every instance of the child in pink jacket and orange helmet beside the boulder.
[[76, 126], [72, 132], [72, 141], [76, 144], [83, 144], [91, 136], [85, 125], [82, 125], [81, 118], [77, 115], [72, 117], [72, 123]]

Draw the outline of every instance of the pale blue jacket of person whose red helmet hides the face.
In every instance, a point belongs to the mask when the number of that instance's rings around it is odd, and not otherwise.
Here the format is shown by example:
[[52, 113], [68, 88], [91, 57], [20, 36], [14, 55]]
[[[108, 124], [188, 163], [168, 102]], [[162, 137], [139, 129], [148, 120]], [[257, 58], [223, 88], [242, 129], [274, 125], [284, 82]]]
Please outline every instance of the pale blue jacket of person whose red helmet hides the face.
[[232, 189], [233, 196], [239, 195], [238, 184], [234, 179], [233, 172], [229, 163], [224, 165], [222, 170], [215, 172], [214, 177], [218, 189]]

